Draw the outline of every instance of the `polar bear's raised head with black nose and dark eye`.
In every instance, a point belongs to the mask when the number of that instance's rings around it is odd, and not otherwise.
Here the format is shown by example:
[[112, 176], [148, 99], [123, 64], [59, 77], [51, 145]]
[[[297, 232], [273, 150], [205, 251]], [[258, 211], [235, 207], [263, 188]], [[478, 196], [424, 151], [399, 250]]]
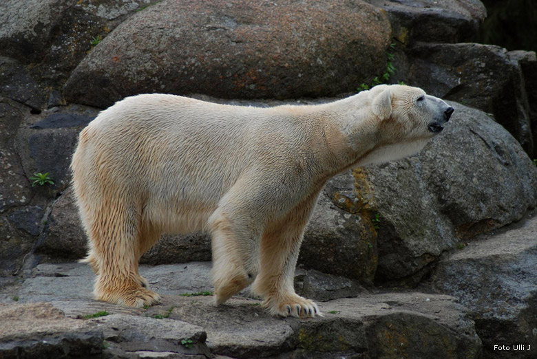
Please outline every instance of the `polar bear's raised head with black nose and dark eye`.
[[377, 128], [375, 148], [360, 164], [397, 160], [420, 151], [450, 120], [453, 107], [417, 87], [379, 85], [370, 90]]

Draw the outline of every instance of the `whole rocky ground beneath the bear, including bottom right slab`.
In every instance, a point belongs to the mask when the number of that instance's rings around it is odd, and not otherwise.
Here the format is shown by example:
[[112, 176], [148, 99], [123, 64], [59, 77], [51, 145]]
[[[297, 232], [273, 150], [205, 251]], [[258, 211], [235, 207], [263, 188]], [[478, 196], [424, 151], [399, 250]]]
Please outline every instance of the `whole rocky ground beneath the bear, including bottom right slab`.
[[320, 300], [324, 313], [309, 319], [268, 316], [246, 291], [215, 307], [209, 262], [143, 265], [162, 295], [147, 309], [92, 301], [87, 265], [40, 264], [1, 290], [0, 357], [534, 358], [536, 232], [531, 214], [472, 241], [417, 290], [297, 270], [297, 292]]

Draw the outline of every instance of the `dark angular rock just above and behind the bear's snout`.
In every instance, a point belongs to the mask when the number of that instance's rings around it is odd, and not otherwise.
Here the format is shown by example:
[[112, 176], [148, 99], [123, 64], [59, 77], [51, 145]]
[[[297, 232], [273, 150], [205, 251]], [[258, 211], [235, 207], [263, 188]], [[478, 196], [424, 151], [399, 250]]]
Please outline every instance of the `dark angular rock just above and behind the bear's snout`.
[[517, 61], [507, 50], [475, 43], [419, 43], [398, 64], [406, 81], [428, 93], [476, 107], [509, 131], [533, 155], [529, 105]]

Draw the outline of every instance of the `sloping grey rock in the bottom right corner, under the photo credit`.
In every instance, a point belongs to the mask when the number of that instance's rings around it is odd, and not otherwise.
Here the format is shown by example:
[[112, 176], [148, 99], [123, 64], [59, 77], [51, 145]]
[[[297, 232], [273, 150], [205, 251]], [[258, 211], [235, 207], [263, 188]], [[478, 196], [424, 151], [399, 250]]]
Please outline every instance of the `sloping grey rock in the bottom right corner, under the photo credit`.
[[[470, 309], [487, 358], [534, 358], [537, 348], [537, 215], [484, 235], [439, 261], [437, 292]], [[494, 345], [508, 345], [499, 352]], [[525, 350], [514, 350], [525, 345]], [[531, 347], [530, 347], [531, 346]]]

